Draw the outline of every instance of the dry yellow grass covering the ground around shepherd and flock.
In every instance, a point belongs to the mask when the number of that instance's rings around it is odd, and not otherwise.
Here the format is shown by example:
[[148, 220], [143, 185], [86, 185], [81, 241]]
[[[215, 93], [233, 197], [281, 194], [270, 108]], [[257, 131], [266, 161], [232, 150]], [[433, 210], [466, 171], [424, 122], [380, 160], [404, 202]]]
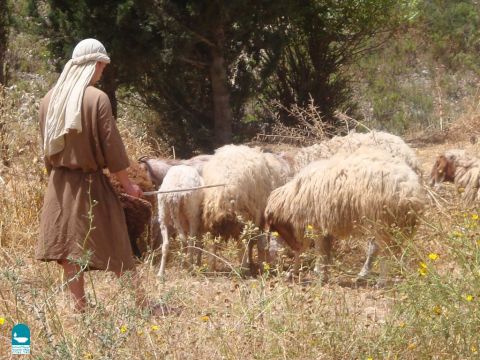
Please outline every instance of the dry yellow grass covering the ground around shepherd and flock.
[[[475, 358], [480, 299], [480, 224], [455, 189], [434, 194], [414, 242], [392, 261], [396, 279], [385, 289], [353, 286], [363, 243], [337, 245], [332, 282], [319, 286], [309, 270], [302, 284], [273, 276], [256, 279], [230, 272], [189, 273], [172, 257], [167, 280], [157, 265], [138, 266], [153, 299], [182, 309], [151, 317], [133, 301], [128, 278], [88, 273], [95, 305], [72, 311], [56, 264], [33, 260], [38, 216], [46, 186], [36, 110], [22, 108], [19, 94], [0, 97], [0, 358], [9, 358], [10, 330], [23, 322], [32, 331], [36, 359], [381, 359]], [[22, 113], [23, 111], [23, 113]], [[126, 112], [128, 114], [128, 112]], [[158, 153], [127, 116], [119, 121], [132, 158]], [[425, 173], [437, 152], [452, 143], [417, 149]], [[222, 253], [235, 264], [232, 251]], [[231, 249], [230, 249], [231, 250]], [[432, 260], [428, 254], [439, 254]], [[311, 254], [305, 257], [308, 265]], [[427, 270], [420, 273], [425, 264]], [[472, 296], [471, 301], [468, 297]], [[468, 297], [468, 298], [467, 298]]]

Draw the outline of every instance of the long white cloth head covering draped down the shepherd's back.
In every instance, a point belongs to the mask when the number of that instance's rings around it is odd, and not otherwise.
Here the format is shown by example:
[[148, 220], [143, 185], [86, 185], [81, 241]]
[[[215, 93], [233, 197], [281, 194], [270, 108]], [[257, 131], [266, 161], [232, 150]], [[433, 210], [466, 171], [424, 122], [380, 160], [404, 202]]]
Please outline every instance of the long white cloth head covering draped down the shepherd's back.
[[83, 93], [92, 80], [97, 61], [110, 62], [100, 41], [85, 39], [75, 46], [72, 59], [67, 62], [55, 84], [48, 105], [43, 143], [45, 156], [63, 150], [64, 135], [70, 130], [82, 132]]

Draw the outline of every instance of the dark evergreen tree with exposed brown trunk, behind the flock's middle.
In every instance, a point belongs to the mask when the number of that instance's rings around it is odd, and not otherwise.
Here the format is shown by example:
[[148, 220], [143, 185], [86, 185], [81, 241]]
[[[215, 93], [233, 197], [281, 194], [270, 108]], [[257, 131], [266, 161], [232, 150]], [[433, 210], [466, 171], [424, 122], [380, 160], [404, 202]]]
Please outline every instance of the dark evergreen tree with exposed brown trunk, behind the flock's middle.
[[[258, 91], [254, 74], [260, 53], [271, 38], [269, 24], [281, 13], [281, 2], [145, 3], [145, 12], [166, 30], [169, 62], [164, 66], [169, 70], [163, 75], [170, 91], [181, 94], [163, 103], [163, 113], [175, 113], [187, 124], [198, 124], [202, 134], [213, 127], [215, 146], [231, 142], [246, 101]], [[161, 94], [162, 89], [155, 93]], [[164, 94], [164, 98], [168, 96]]]

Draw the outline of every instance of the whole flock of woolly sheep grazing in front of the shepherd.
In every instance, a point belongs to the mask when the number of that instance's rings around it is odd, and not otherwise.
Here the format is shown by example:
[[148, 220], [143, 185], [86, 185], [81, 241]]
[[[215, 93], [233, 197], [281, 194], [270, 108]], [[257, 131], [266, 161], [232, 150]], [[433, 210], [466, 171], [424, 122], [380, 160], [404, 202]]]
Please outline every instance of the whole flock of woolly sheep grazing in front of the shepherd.
[[[173, 235], [188, 243], [188, 261], [199, 264], [199, 239], [207, 232], [236, 241], [239, 263], [252, 271], [258, 263], [275, 263], [278, 250], [286, 248], [294, 256], [295, 275], [300, 255], [314, 246], [315, 272], [322, 281], [328, 280], [333, 242], [368, 235], [366, 261], [358, 274], [364, 278], [396, 234], [413, 235], [427, 202], [415, 152], [398, 136], [380, 131], [350, 133], [282, 153], [226, 145], [213, 155], [188, 160], [142, 158], [138, 170], [159, 191], [154, 219], [162, 237], [162, 278]], [[447, 151], [436, 159], [431, 180], [454, 181], [468, 201], [477, 200], [480, 160]], [[247, 221], [262, 233], [244, 243], [240, 237]], [[212, 270], [218, 242], [214, 244]], [[380, 269], [383, 282], [386, 268]]]

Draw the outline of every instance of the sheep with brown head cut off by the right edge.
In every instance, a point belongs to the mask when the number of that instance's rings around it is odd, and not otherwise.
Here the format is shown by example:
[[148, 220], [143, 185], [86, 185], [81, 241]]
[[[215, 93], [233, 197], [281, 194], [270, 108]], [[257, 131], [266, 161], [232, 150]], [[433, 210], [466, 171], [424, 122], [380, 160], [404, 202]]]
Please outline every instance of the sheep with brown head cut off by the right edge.
[[438, 155], [430, 174], [430, 185], [439, 186], [444, 181], [463, 189], [463, 200], [467, 205], [473, 205], [480, 200], [480, 159], [459, 149]]

